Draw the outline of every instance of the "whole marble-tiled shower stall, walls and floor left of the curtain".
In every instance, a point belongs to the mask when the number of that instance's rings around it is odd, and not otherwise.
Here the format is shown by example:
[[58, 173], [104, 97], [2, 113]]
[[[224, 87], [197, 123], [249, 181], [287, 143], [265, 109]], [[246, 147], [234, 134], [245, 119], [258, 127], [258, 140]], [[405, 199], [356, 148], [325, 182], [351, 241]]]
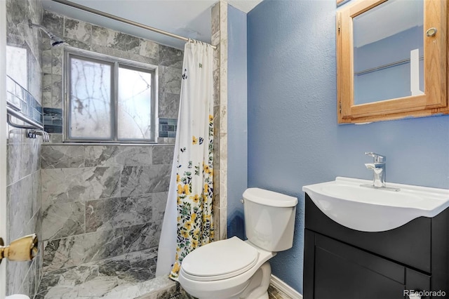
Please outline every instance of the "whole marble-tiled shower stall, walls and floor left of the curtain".
[[[6, 14], [8, 97], [29, 94], [49, 134], [43, 143], [39, 135], [27, 138], [25, 130], [9, 127], [6, 242], [35, 232], [39, 251], [29, 263], [6, 261], [7, 295], [188, 298], [175, 281], [155, 277], [182, 51], [44, 11], [40, 0], [7, 0]], [[55, 47], [62, 41], [65, 46]], [[63, 142], [65, 48], [157, 67], [156, 143]], [[24, 73], [16, 74], [23, 58]]]

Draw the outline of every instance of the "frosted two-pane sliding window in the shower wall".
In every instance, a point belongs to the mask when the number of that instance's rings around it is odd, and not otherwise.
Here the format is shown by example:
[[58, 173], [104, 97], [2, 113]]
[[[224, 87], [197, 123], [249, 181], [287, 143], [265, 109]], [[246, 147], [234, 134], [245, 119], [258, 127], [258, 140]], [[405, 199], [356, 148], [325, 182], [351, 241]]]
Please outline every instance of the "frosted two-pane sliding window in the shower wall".
[[157, 67], [66, 49], [65, 140], [154, 142]]

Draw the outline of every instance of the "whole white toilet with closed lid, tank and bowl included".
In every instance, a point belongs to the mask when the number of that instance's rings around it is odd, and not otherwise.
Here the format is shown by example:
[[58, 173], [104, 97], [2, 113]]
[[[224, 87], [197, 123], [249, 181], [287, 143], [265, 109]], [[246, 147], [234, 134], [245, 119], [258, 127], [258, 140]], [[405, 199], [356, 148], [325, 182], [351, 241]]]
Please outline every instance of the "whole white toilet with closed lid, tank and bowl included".
[[243, 192], [246, 241], [206, 244], [182, 260], [179, 282], [199, 299], [268, 299], [269, 259], [293, 245], [297, 198], [249, 188]]

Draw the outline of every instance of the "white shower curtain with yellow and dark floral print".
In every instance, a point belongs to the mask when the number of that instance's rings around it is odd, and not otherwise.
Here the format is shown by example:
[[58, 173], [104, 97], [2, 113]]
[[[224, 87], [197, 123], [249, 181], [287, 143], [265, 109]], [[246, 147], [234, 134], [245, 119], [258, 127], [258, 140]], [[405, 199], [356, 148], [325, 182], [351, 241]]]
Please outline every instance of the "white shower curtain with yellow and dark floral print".
[[214, 239], [213, 48], [188, 41], [184, 48], [175, 154], [163, 218], [156, 276], [177, 280], [182, 259]]

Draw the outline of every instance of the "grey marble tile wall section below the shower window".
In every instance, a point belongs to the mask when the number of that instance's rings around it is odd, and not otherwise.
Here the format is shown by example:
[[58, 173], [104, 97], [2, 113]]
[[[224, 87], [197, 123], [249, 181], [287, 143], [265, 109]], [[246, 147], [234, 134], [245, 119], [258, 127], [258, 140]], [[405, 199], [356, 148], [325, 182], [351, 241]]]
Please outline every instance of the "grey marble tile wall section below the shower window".
[[43, 145], [43, 270], [155, 248], [173, 145]]

